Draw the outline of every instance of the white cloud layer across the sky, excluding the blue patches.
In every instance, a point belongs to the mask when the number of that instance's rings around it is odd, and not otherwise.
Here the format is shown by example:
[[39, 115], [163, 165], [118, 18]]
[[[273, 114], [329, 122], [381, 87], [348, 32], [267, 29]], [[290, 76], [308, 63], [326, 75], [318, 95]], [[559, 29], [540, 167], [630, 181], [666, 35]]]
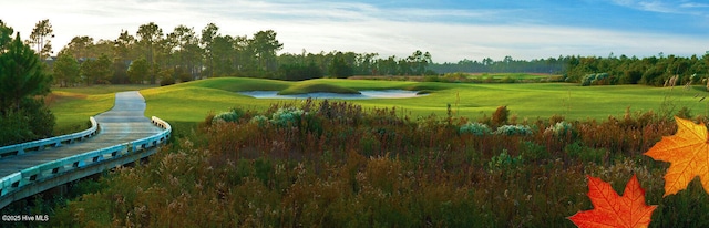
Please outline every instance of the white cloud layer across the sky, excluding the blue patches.
[[[615, 0], [633, 6], [640, 1]], [[648, 1], [645, 1], [648, 2]], [[691, 2], [685, 2], [686, 4]], [[639, 4], [636, 4], [639, 6]], [[646, 8], [662, 9], [646, 4]], [[688, 6], [690, 7], [690, 6]], [[693, 6], [697, 7], [697, 6]], [[436, 62], [483, 58], [538, 59], [561, 55], [628, 55], [703, 53], [705, 38], [640, 33], [562, 25], [540, 25], [527, 19], [510, 19], [517, 10], [435, 10], [404, 8], [386, 10], [364, 3], [275, 3], [86, 1], [13, 2], [0, 9], [3, 20], [24, 38], [34, 23], [50, 19], [59, 51], [75, 35], [95, 40], [115, 39], [122, 29], [135, 34], [141, 24], [157, 23], [165, 33], [179, 24], [198, 33], [207, 23], [223, 34], [251, 35], [273, 29], [285, 44], [284, 52], [332, 50], [377, 52], [380, 56], [408, 56], [429, 51]], [[514, 18], [513, 18], [514, 19]], [[465, 22], [465, 23], [464, 23]]]

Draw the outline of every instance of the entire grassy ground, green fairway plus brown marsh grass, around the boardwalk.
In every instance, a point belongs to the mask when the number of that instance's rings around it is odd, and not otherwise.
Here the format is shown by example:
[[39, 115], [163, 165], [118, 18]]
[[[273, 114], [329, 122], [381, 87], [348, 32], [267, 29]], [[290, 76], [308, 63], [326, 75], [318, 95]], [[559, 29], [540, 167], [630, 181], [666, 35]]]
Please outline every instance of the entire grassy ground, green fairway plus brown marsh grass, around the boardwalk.
[[[267, 124], [246, 113], [236, 122], [187, 127], [205, 121], [209, 112], [264, 111], [273, 103], [284, 107], [294, 102], [235, 92], [294, 87], [399, 89], [429, 95], [350, 101], [364, 108], [395, 106], [397, 113], [413, 118], [360, 112], [342, 103], [312, 106], [296, 101], [295, 106], [310, 110], [308, 115], [292, 117], [295, 111], [271, 110], [258, 113], [269, 120]], [[113, 97], [102, 91], [55, 91], [52, 108], [63, 112], [59, 115], [73, 107], [86, 110], [86, 115], [102, 112]], [[592, 208], [587, 175], [612, 183], [616, 190], [637, 175], [647, 190], [646, 201], [659, 205], [654, 226], [707, 227], [709, 221], [709, 198], [700, 183], [664, 197], [667, 166], [643, 155], [676, 132], [674, 121], [655, 115], [607, 118], [623, 115], [627, 107], [657, 113], [686, 106], [692, 114], [706, 115], [703, 86], [232, 77], [141, 89], [141, 93], [147, 102], [146, 116], [166, 120], [179, 132], [173, 138], [183, 138], [184, 131], [199, 134], [174, 141], [169, 151], [157, 153], [144, 166], [85, 184], [82, 189], [95, 191], [52, 210], [56, 214], [51, 215], [50, 226], [571, 227], [568, 216]], [[528, 133], [516, 127], [516, 132], [497, 128], [476, 134], [472, 124], [451, 127], [441, 118], [417, 118], [431, 113], [445, 116], [448, 104], [455, 115], [472, 120], [506, 105], [518, 120], [558, 114], [567, 121], [599, 121], [533, 122]], [[490, 122], [490, 126], [507, 123]], [[205, 219], [193, 219], [205, 211], [209, 213]]]

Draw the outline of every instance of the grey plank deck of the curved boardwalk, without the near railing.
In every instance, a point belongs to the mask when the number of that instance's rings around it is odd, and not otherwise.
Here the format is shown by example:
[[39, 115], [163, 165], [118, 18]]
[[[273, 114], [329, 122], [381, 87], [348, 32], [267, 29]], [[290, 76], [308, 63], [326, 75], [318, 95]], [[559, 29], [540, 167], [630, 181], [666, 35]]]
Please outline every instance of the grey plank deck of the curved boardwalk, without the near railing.
[[97, 135], [60, 147], [0, 158], [0, 178], [48, 162], [145, 138], [163, 132], [144, 116], [144, 112], [145, 100], [137, 91], [116, 93], [113, 108], [95, 116], [99, 123]]

